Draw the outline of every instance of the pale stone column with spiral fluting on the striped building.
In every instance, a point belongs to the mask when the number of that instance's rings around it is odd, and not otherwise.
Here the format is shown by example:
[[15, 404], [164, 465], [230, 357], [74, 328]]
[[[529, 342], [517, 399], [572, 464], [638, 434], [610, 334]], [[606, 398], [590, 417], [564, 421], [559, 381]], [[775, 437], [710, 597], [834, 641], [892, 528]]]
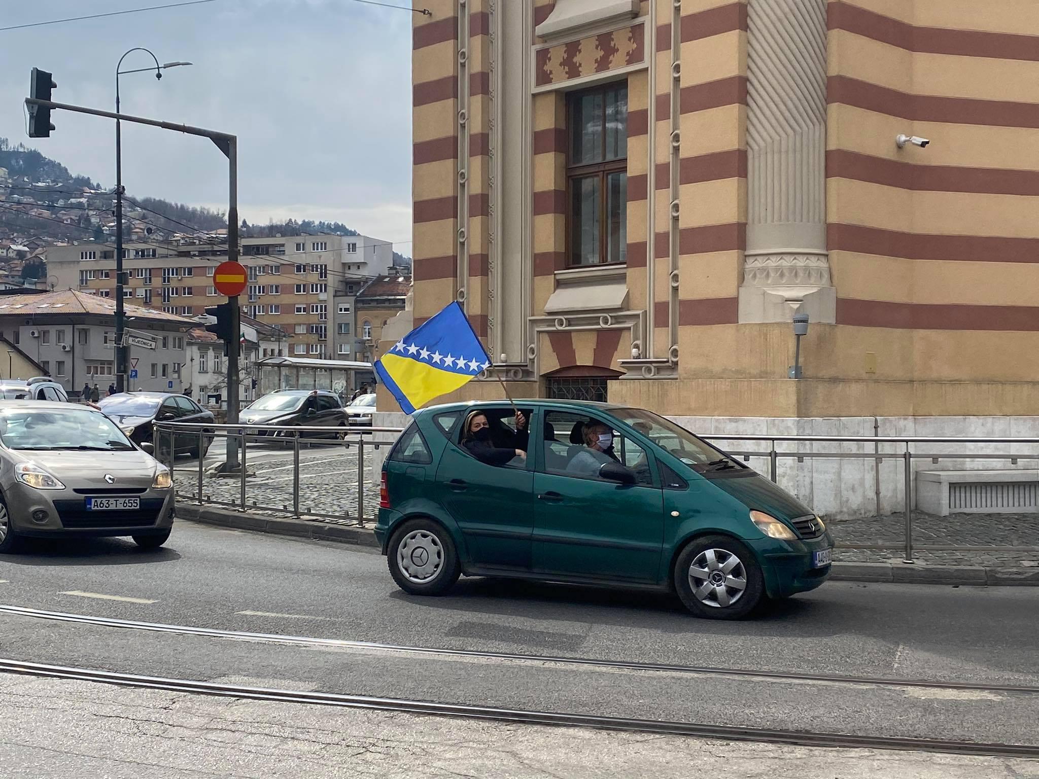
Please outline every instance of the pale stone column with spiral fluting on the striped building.
[[826, 253], [826, 0], [749, 0], [740, 322], [836, 320]]

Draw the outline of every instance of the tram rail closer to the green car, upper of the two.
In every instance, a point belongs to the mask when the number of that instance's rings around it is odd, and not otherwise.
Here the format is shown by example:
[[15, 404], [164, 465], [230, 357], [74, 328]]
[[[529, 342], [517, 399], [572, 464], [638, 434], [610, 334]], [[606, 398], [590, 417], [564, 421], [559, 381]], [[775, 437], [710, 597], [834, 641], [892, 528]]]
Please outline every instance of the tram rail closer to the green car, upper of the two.
[[729, 676], [757, 678], [773, 681], [790, 682], [822, 682], [832, 684], [865, 686], [879, 688], [918, 688], [930, 690], [982, 692], [982, 693], [1014, 693], [1024, 695], [1039, 694], [1039, 686], [1029, 684], [996, 684], [991, 682], [939, 681], [931, 679], [910, 679], [897, 677], [849, 676], [838, 674], [815, 674], [803, 672], [771, 671], [763, 669], [720, 668], [712, 666], [692, 666], [666, 663], [638, 663], [635, 661], [618, 661], [592, 657], [553, 656], [538, 654], [522, 654], [512, 652], [481, 651], [475, 649], [452, 649], [441, 647], [419, 647], [403, 644], [385, 644], [350, 639], [332, 639], [309, 636], [293, 636], [287, 634], [251, 633], [244, 630], [225, 630], [214, 627], [198, 627], [192, 625], [176, 625], [162, 622], [144, 622], [138, 620], [100, 617], [86, 614], [46, 611], [28, 607], [0, 605], [0, 615], [29, 617], [72, 624], [94, 625], [113, 629], [130, 629], [150, 633], [172, 634], [180, 636], [197, 636], [212, 639], [255, 641], [271, 644], [288, 644], [315, 648], [338, 648], [370, 653], [426, 655], [446, 659], [468, 659], [482, 661], [501, 661], [535, 666], [580, 667], [590, 670], [628, 671], [635, 673], [671, 673], [689, 676]]

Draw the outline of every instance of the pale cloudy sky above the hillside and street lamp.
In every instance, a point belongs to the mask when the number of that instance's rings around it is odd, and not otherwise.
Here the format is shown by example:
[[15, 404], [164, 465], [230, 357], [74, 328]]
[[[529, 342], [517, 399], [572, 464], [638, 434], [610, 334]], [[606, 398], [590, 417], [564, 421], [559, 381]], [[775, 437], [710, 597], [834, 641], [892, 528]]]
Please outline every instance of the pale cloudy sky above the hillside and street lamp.
[[[0, 27], [176, 1], [0, 0]], [[111, 120], [58, 111], [50, 138], [26, 136], [29, 71], [54, 74], [56, 101], [113, 110], [115, 63], [145, 47], [194, 64], [161, 82], [123, 76], [123, 111], [237, 134], [249, 222], [338, 220], [410, 254], [410, 16], [354, 0], [214, 0], [0, 31], [0, 136], [111, 186]], [[123, 69], [152, 61], [134, 52]], [[124, 125], [123, 179], [131, 195], [227, 210], [225, 159], [202, 138]]]

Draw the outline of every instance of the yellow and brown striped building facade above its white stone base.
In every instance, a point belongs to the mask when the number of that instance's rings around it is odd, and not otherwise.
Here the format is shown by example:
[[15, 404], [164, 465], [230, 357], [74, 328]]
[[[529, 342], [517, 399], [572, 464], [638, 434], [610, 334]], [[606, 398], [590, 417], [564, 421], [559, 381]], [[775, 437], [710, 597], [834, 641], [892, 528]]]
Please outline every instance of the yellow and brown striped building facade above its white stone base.
[[461, 301], [515, 394], [1036, 413], [1039, 3], [421, 5], [414, 316]]

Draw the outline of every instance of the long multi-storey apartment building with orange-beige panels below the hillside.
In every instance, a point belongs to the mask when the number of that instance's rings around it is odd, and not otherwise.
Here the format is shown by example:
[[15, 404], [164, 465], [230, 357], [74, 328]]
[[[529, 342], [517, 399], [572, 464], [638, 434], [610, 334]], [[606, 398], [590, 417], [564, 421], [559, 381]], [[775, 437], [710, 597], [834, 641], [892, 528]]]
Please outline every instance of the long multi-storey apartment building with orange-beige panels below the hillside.
[[[124, 244], [127, 302], [179, 317], [196, 317], [223, 302], [213, 273], [227, 260], [227, 244], [180, 240]], [[287, 354], [331, 358], [330, 301], [337, 290], [359, 289], [393, 264], [393, 246], [369, 236], [244, 238], [239, 261], [249, 270], [240, 298], [247, 316], [285, 330]], [[101, 297], [115, 295], [115, 247], [83, 243], [48, 251], [55, 289]], [[351, 292], [352, 294], [352, 292]], [[352, 322], [352, 320], [351, 320]]]

